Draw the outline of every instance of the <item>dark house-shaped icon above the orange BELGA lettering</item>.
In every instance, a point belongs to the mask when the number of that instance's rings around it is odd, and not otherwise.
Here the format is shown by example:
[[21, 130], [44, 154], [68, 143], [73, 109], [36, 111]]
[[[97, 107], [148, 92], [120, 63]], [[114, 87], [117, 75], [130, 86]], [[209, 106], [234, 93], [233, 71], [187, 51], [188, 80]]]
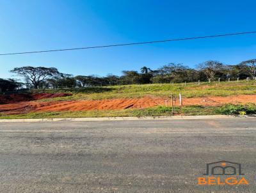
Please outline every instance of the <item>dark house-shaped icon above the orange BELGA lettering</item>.
[[206, 173], [204, 175], [244, 175], [242, 173], [241, 164], [236, 162], [228, 162], [225, 160], [219, 162], [211, 162], [206, 164]]

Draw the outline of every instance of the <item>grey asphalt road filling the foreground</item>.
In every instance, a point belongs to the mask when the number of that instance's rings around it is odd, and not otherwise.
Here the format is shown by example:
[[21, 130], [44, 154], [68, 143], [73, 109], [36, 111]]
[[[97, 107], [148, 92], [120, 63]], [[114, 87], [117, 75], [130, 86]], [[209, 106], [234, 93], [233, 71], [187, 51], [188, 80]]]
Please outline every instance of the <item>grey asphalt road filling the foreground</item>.
[[[198, 185], [219, 160], [249, 185]], [[248, 193], [255, 171], [255, 118], [0, 123], [1, 193]]]

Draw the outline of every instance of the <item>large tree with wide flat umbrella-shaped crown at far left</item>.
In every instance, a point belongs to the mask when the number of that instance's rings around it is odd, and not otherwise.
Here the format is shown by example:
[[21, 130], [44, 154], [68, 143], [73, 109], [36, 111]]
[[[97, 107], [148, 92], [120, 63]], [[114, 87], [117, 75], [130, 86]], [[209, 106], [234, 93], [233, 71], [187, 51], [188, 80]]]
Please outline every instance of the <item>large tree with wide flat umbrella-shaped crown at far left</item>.
[[51, 77], [60, 76], [61, 73], [57, 68], [46, 68], [46, 67], [33, 67], [33, 66], [23, 66], [19, 68], [13, 68], [10, 72], [16, 73], [26, 79], [29, 83], [33, 85], [34, 88], [38, 89], [38, 86], [45, 79]]

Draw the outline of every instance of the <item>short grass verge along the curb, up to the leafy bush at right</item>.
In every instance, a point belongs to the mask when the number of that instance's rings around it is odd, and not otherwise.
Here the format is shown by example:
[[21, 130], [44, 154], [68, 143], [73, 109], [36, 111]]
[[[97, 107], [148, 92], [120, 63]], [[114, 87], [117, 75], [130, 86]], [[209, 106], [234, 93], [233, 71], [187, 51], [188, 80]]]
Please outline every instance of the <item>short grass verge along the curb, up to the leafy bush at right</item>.
[[116, 111], [63, 111], [63, 112], [31, 112], [28, 114], [0, 114], [0, 119], [34, 119], [34, 118], [100, 118], [100, 117], [143, 117], [143, 116], [172, 116], [177, 114], [202, 115], [216, 114], [218, 107], [192, 105], [188, 107], [152, 107], [146, 109], [124, 109]]

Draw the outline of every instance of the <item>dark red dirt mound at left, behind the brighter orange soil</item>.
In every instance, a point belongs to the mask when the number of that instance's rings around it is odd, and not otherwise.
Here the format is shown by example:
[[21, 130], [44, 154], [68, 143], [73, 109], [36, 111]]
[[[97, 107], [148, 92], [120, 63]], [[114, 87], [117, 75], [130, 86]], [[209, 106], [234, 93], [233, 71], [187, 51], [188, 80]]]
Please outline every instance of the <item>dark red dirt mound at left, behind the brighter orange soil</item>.
[[55, 97], [63, 97], [70, 96], [72, 94], [68, 93], [20, 93], [20, 94], [12, 94], [12, 95], [0, 95], [0, 104], [13, 104], [17, 102], [26, 102], [31, 100], [40, 100], [43, 98], [55, 98]]

